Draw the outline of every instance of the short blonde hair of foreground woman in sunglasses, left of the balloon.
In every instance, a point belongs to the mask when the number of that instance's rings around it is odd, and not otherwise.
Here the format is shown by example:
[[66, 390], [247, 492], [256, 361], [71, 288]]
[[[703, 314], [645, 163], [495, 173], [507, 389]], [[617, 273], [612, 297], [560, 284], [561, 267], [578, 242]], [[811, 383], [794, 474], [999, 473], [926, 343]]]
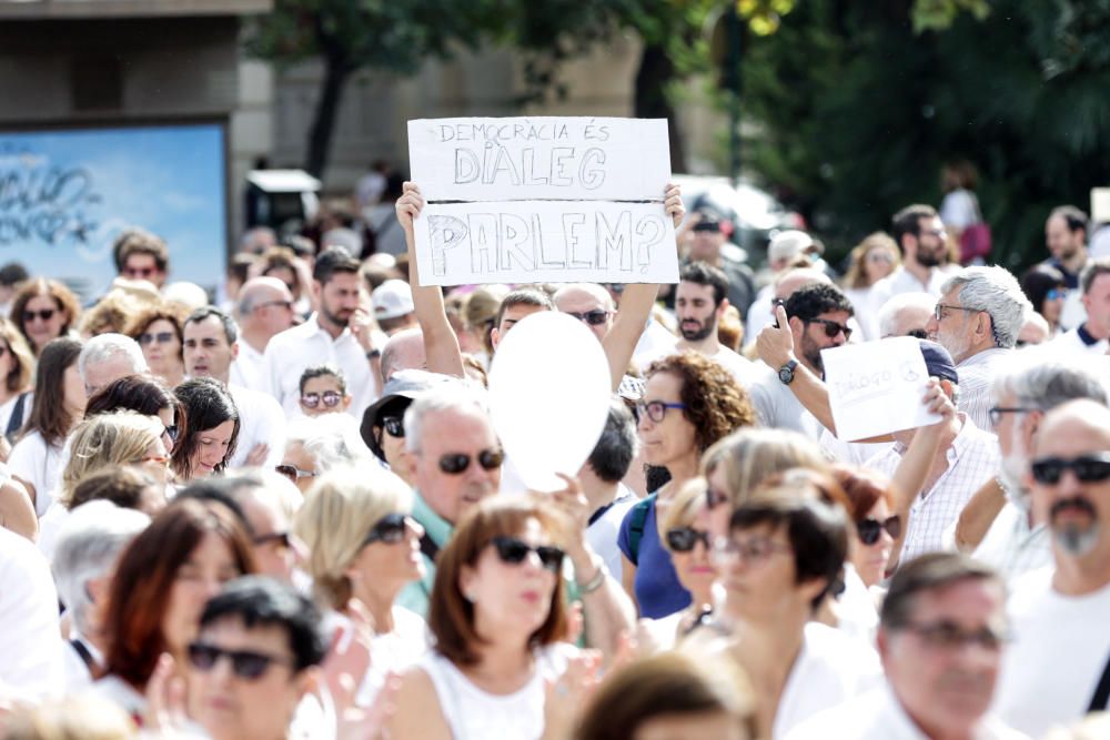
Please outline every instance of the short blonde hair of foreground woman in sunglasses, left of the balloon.
[[307, 567], [316, 596], [333, 609], [351, 599], [347, 568], [366, 535], [387, 514], [412, 510], [408, 486], [373, 465], [329, 470], [313, 484], [296, 513], [293, 530], [311, 556]]

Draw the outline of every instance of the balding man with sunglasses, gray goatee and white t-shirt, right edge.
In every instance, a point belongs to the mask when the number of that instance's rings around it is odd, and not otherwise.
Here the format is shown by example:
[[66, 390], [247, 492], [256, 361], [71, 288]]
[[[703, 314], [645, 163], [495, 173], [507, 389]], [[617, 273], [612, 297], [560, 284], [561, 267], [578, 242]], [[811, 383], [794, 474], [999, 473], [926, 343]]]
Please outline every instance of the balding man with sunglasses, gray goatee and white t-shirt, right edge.
[[1110, 696], [1110, 409], [1079, 399], [1049, 412], [1028, 480], [1054, 567], [1027, 575], [1010, 598], [998, 709], [1039, 738], [1104, 710]]

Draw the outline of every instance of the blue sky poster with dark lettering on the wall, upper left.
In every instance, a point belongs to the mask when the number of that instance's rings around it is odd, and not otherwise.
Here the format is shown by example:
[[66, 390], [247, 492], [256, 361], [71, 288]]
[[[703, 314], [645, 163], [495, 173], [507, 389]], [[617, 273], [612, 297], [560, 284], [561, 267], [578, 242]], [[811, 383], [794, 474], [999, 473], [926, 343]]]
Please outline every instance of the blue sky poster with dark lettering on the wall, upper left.
[[137, 225], [170, 245], [170, 281], [212, 288], [226, 252], [219, 124], [0, 132], [0, 264], [61, 280], [82, 301], [115, 276]]

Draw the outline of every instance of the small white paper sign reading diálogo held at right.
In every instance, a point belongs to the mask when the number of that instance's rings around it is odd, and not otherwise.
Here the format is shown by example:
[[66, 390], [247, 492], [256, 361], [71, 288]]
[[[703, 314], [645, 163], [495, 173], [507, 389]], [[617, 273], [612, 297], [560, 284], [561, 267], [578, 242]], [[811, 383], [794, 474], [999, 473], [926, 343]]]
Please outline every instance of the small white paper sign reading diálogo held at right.
[[823, 349], [821, 362], [840, 439], [867, 439], [940, 420], [922, 403], [929, 372], [914, 337]]

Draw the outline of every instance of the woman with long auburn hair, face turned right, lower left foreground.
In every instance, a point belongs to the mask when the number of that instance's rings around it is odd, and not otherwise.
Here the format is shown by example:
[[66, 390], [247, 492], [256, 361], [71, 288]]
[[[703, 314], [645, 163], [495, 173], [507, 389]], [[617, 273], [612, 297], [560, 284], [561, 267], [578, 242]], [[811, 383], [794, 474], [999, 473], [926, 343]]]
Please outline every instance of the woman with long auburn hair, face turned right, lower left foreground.
[[173, 657], [183, 678], [204, 605], [228, 581], [256, 571], [250, 538], [229, 510], [196, 499], [163, 509], [120, 555], [108, 586], [98, 695], [141, 718], [161, 655]]

